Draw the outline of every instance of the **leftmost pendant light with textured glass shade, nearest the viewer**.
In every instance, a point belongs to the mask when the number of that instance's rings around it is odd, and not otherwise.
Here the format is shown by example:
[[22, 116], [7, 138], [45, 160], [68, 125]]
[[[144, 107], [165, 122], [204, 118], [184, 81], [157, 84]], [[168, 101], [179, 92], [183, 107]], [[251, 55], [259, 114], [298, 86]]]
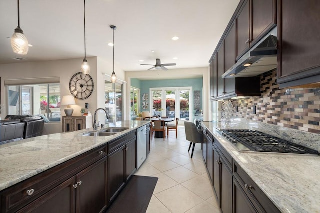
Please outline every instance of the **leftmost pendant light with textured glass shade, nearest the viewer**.
[[14, 29], [11, 37], [11, 47], [17, 54], [27, 54], [29, 50], [29, 42], [20, 28], [20, 0], [18, 0], [18, 27]]

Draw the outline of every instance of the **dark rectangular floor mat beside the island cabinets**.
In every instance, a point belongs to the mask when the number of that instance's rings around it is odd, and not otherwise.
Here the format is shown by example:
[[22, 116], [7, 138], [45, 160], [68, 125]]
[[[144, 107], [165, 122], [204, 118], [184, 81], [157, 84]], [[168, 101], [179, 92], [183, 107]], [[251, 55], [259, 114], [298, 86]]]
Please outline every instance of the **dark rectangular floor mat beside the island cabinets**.
[[106, 212], [145, 212], [157, 181], [157, 177], [133, 175]]

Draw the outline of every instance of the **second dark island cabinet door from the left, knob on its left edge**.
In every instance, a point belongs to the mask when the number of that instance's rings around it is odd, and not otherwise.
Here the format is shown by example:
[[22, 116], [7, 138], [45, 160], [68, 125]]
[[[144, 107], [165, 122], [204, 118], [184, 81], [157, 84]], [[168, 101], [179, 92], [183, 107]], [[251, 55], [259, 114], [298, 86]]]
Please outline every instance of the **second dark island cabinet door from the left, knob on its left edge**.
[[76, 211], [101, 212], [107, 206], [107, 157], [76, 175]]

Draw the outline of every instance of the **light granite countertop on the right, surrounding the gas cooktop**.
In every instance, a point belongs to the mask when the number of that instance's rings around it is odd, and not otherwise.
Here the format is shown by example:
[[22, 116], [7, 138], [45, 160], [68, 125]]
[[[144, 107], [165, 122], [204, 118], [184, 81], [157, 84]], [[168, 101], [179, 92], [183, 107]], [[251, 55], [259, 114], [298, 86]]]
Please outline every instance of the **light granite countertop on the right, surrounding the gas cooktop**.
[[[273, 132], [289, 141], [319, 150], [319, 135], [260, 122], [234, 119], [203, 122], [233, 159], [246, 171], [281, 212], [320, 212], [320, 157], [303, 154], [240, 153], [216, 128], [252, 129]], [[273, 129], [272, 129], [273, 128]], [[303, 136], [302, 138], [300, 138]]]

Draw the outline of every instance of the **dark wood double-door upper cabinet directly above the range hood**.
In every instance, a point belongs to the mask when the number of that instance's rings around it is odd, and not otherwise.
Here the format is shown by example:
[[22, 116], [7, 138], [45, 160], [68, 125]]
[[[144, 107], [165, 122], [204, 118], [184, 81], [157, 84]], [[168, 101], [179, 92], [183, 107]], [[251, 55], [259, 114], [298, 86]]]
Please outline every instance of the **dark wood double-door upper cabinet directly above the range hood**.
[[238, 60], [276, 24], [276, 0], [244, 0], [237, 15], [236, 59]]

